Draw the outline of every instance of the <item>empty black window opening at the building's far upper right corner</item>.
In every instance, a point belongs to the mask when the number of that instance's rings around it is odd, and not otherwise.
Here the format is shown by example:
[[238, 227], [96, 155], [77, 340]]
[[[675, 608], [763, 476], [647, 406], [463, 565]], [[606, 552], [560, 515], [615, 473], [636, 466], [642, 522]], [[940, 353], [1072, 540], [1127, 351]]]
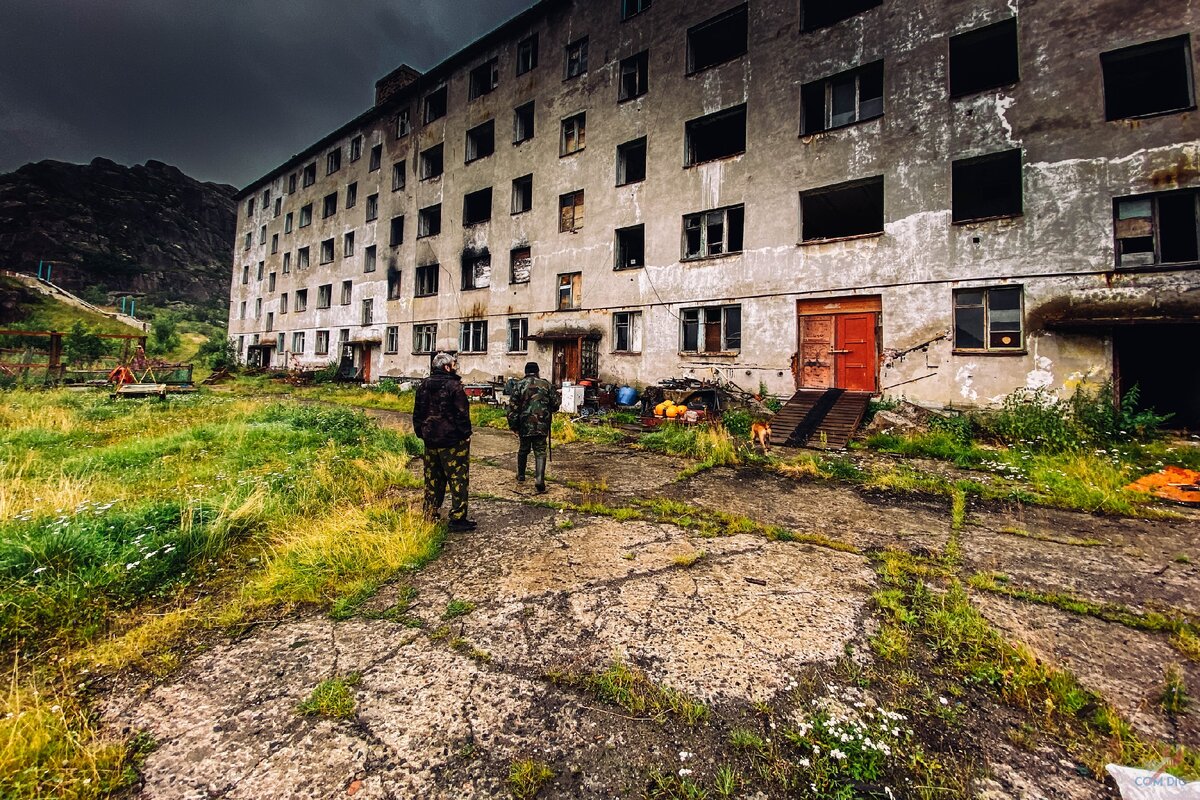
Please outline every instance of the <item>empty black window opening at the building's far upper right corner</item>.
[[1195, 107], [1188, 36], [1100, 54], [1104, 114], [1123, 120]]

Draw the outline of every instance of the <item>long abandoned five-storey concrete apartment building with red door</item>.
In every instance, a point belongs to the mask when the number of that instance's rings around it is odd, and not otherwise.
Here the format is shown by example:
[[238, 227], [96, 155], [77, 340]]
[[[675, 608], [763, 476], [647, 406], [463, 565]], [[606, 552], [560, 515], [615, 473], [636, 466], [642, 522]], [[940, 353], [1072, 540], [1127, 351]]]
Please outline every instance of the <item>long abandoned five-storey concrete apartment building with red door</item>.
[[240, 196], [244, 357], [716, 369], [1200, 425], [1200, 116], [1171, 0], [544, 0]]

